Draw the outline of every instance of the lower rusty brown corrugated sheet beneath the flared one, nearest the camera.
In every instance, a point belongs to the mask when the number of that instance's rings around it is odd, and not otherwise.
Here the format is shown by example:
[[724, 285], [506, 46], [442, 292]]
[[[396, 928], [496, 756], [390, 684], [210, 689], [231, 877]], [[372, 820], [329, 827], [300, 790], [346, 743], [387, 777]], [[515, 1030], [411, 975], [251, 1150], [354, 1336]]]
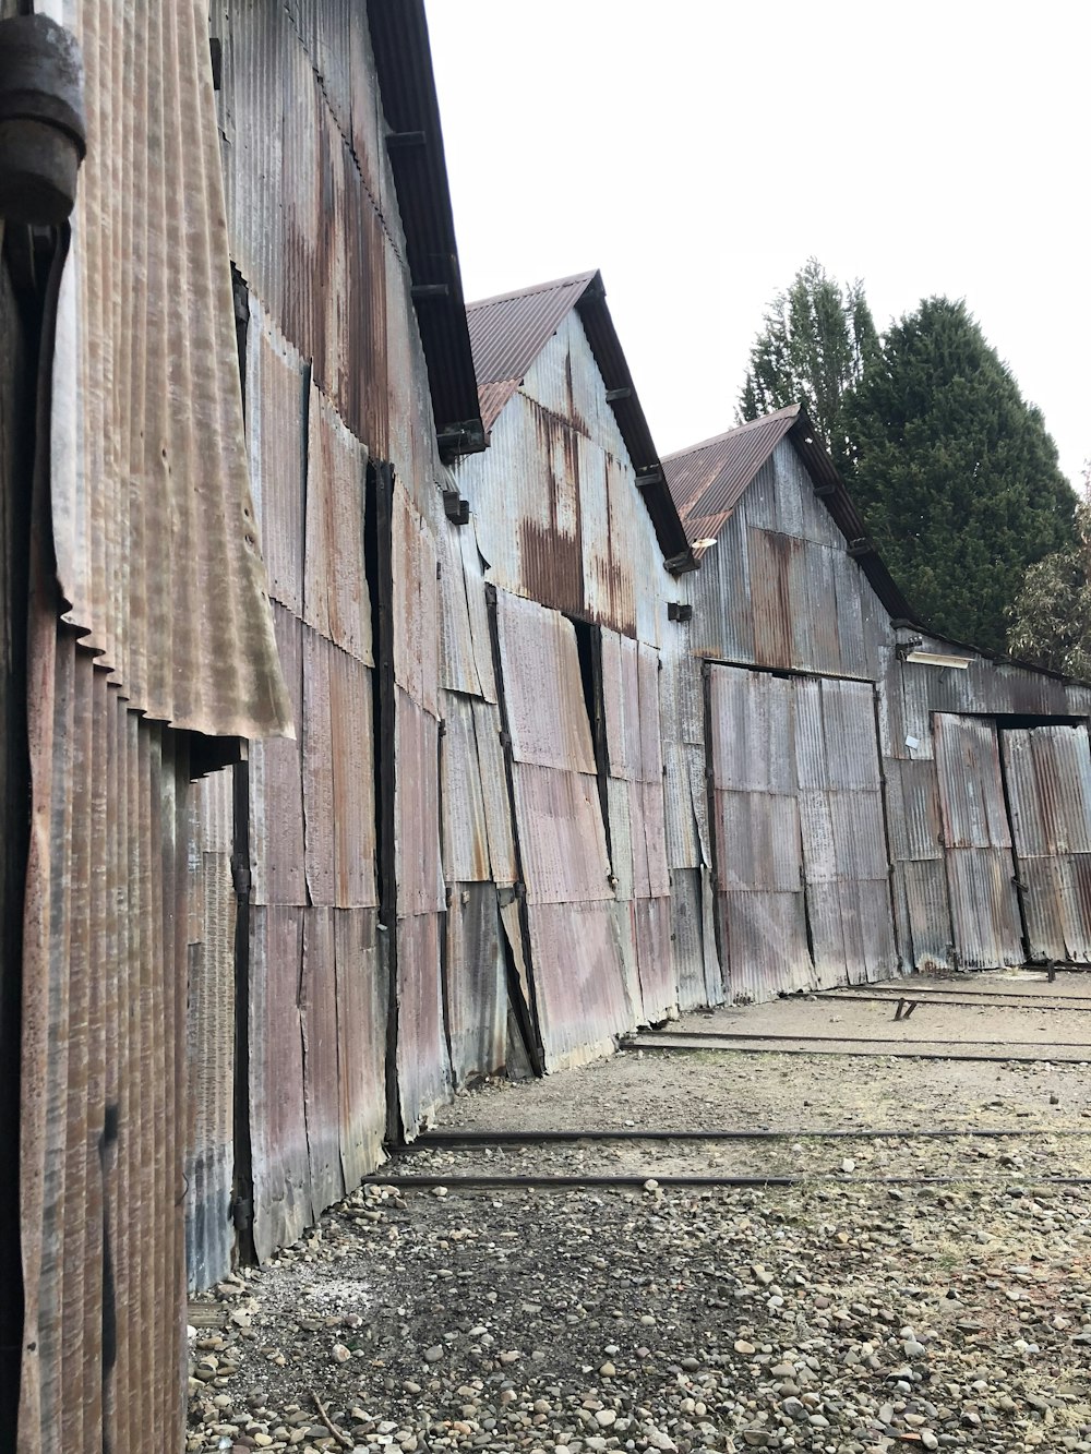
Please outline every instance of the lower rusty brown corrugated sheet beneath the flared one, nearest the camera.
[[188, 760], [175, 734], [127, 710], [74, 632], [57, 632], [48, 595], [32, 606], [31, 663], [17, 1444], [175, 1448]]

